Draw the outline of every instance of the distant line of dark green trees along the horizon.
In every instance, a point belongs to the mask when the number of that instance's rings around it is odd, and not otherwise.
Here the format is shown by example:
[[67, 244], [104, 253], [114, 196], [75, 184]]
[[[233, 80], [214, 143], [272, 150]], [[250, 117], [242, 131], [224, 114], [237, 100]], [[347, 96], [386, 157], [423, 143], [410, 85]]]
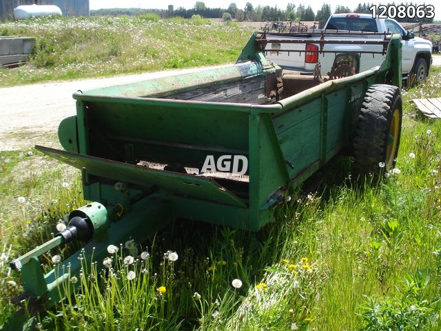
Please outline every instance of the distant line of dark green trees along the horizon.
[[[403, 5], [403, 6], [418, 6], [411, 3], [388, 3], [387, 5]], [[334, 14], [343, 12], [356, 12], [371, 14], [373, 3], [358, 3], [358, 6], [351, 10], [348, 6], [338, 5], [334, 8]], [[320, 10], [314, 12], [311, 6], [305, 6], [302, 3], [296, 6], [295, 3], [288, 3], [286, 8], [278, 8], [277, 5], [271, 6], [256, 6], [247, 2], [245, 8], [238, 8], [236, 3], [232, 2], [228, 8], [208, 8], [203, 1], [196, 1], [193, 8], [185, 9], [179, 7], [173, 10], [157, 10], [157, 9], [139, 9], [139, 8], [112, 8], [90, 10], [91, 15], [139, 15], [152, 12], [159, 17], [183, 17], [185, 19], [191, 18], [193, 15], [200, 15], [206, 19], [223, 18], [224, 20], [236, 19], [237, 21], [326, 21], [333, 13], [331, 6], [324, 3]], [[402, 22], [418, 22], [418, 18], [414, 19], [398, 19]], [[424, 20], [431, 23], [433, 19]]]

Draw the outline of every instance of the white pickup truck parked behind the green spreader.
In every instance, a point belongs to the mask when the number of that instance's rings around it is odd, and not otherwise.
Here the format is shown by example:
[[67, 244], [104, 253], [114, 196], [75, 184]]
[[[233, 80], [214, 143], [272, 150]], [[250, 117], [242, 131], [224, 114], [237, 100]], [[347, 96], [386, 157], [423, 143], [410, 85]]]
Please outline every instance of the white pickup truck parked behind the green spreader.
[[[407, 79], [409, 73], [415, 74], [417, 81], [422, 81], [427, 77], [432, 62], [431, 41], [415, 37], [412, 32], [404, 30], [400, 23], [394, 19], [373, 19], [369, 14], [333, 14], [329, 17], [323, 30], [315, 29], [303, 34], [286, 34], [283, 37], [280, 37], [279, 34], [278, 38], [319, 39], [323, 31], [327, 34], [327, 40], [336, 39], [340, 43], [326, 43], [321, 49], [325, 52], [320, 53], [318, 52], [320, 50], [318, 43], [287, 43], [284, 44], [285, 52], [278, 52], [280, 43], [268, 43], [265, 48], [267, 51], [266, 57], [284, 69], [298, 71], [302, 74], [313, 74], [318, 61], [320, 61], [321, 72], [330, 72], [338, 61], [344, 59], [350, 61], [355, 72], [362, 72], [380, 66], [384, 55], [378, 54], [378, 51], [381, 50], [382, 46], [353, 45], [341, 43], [341, 41], [353, 39], [378, 40], [384, 38], [384, 33], [398, 33], [402, 38], [403, 78]], [[351, 36], [349, 35], [351, 31], [361, 31], [366, 32], [366, 34], [358, 33], [356, 36]], [[267, 34], [267, 36], [269, 35]], [[292, 50], [292, 52], [286, 50]], [[302, 50], [302, 52], [298, 52], [299, 50]], [[306, 52], [307, 50], [310, 52]], [[377, 54], [369, 52], [376, 52]]]

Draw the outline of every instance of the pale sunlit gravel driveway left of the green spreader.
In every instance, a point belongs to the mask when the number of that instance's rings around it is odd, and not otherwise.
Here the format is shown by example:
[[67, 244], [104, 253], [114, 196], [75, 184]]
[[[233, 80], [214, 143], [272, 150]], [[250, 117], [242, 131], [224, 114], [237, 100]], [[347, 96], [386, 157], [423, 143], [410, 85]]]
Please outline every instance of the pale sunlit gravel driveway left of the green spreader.
[[0, 151], [31, 148], [35, 144], [56, 146], [60, 121], [76, 113], [72, 94], [77, 90], [133, 83], [203, 69], [192, 68], [0, 88]]

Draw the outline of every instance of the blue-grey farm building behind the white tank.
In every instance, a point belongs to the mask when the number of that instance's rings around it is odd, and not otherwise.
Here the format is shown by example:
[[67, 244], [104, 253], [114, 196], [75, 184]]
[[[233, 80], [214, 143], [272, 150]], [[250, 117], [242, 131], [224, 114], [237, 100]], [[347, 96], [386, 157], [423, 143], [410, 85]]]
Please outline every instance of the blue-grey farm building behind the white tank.
[[64, 16], [89, 16], [89, 0], [1, 0], [0, 20], [13, 19], [14, 8], [32, 4], [59, 6]]

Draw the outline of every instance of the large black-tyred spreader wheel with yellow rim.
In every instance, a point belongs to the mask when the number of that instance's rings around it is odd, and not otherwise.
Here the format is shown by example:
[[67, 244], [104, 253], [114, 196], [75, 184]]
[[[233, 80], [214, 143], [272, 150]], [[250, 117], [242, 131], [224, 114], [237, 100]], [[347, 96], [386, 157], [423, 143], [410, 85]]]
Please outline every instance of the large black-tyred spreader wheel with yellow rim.
[[375, 84], [365, 94], [353, 141], [360, 174], [379, 176], [395, 165], [400, 146], [402, 100], [396, 86]]

